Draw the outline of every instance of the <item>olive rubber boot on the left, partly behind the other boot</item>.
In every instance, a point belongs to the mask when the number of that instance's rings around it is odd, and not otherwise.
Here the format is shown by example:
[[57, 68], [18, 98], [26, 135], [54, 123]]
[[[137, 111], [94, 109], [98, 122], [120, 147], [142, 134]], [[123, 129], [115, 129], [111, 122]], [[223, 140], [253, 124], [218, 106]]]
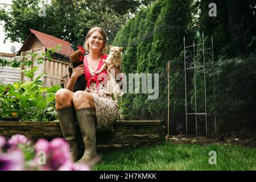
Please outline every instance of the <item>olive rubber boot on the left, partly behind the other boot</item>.
[[77, 134], [75, 123], [75, 108], [73, 106], [56, 110], [59, 117], [63, 137], [70, 146], [70, 154], [75, 162], [79, 157], [79, 147], [77, 146]]

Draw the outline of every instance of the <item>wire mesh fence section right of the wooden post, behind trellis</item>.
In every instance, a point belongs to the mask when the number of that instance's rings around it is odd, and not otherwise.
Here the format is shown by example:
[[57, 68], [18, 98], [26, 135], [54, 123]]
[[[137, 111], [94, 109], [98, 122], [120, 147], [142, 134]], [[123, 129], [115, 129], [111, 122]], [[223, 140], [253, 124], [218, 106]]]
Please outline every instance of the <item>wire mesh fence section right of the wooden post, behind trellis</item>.
[[[203, 56], [198, 62], [202, 59]], [[186, 74], [184, 64], [172, 64], [171, 69], [174, 70], [171, 71], [170, 78], [174, 76], [172, 74], [179, 72], [176, 79], [182, 82], [184, 88], [175, 85], [177, 80], [171, 83], [176, 86], [170, 93], [171, 134], [255, 139], [256, 55], [210, 61], [205, 63], [205, 69], [194, 69], [192, 65], [192, 69], [187, 69]], [[179, 109], [175, 105], [176, 101], [181, 102]]]

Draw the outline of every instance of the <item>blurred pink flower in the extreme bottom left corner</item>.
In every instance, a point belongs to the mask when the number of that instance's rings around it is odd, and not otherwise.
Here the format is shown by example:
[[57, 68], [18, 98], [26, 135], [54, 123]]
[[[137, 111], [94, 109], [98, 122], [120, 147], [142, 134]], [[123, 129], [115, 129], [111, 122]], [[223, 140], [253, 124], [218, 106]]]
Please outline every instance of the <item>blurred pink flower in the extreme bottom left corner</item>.
[[24, 157], [22, 151], [15, 150], [0, 154], [0, 171], [22, 171]]

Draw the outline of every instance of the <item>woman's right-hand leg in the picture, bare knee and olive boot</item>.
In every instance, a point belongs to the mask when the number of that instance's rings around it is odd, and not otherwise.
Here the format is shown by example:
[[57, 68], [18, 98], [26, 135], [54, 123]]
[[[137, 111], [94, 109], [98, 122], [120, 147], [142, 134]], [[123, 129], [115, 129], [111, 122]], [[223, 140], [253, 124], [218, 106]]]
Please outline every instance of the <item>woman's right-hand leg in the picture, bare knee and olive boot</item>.
[[84, 140], [85, 151], [79, 162], [89, 163], [96, 155], [96, 125], [97, 118], [92, 94], [77, 91], [73, 94], [73, 104], [76, 109], [77, 121]]

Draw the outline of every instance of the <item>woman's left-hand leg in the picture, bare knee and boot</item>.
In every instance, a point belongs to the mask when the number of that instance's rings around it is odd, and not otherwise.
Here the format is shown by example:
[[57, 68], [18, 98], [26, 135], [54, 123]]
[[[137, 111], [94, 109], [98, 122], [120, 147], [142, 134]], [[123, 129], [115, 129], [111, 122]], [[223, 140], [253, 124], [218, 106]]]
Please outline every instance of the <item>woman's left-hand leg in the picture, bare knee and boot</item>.
[[79, 156], [77, 146], [75, 109], [73, 106], [73, 92], [68, 89], [59, 89], [55, 94], [56, 113], [59, 117], [63, 137], [70, 146], [70, 153], [74, 161]]

